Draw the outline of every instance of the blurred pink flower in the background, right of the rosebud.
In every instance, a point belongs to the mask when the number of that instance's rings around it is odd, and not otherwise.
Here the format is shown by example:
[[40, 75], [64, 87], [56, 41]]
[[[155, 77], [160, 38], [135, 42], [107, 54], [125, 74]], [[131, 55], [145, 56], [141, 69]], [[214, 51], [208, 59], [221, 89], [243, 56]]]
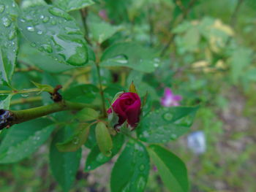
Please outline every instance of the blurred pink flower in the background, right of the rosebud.
[[161, 98], [161, 104], [165, 107], [178, 106], [182, 96], [174, 95], [170, 88], [165, 88], [164, 96]]

